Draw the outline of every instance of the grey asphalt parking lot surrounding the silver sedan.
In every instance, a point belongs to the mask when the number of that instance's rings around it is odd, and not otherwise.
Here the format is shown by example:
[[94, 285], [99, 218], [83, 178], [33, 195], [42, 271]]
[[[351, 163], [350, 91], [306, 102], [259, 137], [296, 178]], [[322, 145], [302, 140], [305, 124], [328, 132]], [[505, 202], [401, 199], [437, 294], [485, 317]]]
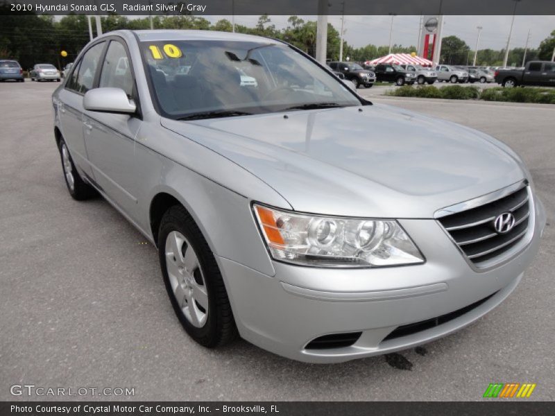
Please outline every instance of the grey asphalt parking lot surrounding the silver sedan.
[[536, 383], [531, 399], [555, 399], [555, 105], [359, 90], [509, 144], [531, 170], [549, 225], [520, 286], [477, 323], [400, 354], [309, 365], [243, 340], [207, 350], [187, 337], [155, 248], [101, 198], [67, 193], [52, 128], [57, 86], [0, 84], [0, 400], [29, 399], [10, 395], [22, 383], [135, 388], [117, 399], [141, 401], [480, 400], [494, 382]]

